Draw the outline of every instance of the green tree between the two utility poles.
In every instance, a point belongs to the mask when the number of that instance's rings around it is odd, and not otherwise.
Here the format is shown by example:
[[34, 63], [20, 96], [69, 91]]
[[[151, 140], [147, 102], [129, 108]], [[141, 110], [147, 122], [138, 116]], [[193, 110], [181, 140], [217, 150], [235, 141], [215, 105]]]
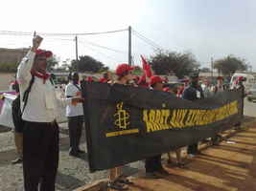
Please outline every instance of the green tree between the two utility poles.
[[81, 55], [79, 57], [79, 60], [72, 60], [71, 61], [72, 69], [78, 70], [81, 73], [84, 72], [92, 72], [92, 73], [99, 73], [108, 71], [108, 67], [105, 67], [105, 65], [94, 59], [93, 57], [89, 55]]

